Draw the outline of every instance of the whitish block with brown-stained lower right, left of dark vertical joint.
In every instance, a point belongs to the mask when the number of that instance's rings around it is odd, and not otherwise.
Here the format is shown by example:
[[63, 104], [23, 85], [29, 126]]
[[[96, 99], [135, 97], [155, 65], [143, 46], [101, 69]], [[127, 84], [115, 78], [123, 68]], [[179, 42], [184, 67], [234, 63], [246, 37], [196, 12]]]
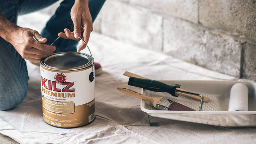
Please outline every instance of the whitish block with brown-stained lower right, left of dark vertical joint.
[[164, 19], [164, 53], [231, 76], [240, 76], [240, 42], [184, 20]]

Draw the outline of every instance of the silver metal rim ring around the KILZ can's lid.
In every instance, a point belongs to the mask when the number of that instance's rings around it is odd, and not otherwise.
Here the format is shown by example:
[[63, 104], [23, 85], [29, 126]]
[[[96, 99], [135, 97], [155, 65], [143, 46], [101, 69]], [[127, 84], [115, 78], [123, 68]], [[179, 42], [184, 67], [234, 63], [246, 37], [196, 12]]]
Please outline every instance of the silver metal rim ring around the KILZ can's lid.
[[[82, 66], [79, 66], [79, 67], [73, 67], [73, 68], [57, 68], [57, 67], [51, 67], [51, 66], [48, 66], [47, 64], [45, 64], [45, 61], [48, 60], [49, 58], [52, 58], [52, 57], [56, 57], [56, 56], [60, 56], [60, 55], [65, 55], [65, 54], [75, 54], [77, 56], [81, 56], [81, 57], [85, 57], [87, 58], [89, 61], [87, 64], [84, 64]], [[90, 67], [92, 65], [92, 62], [94, 61], [94, 58], [91, 57], [90, 55], [88, 54], [85, 54], [85, 53], [80, 53], [80, 52], [59, 52], [59, 53], [54, 53], [54, 54], [51, 54], [45, 58], [42, 58], [40, 60], [40, 65], [42, 67], [45, 67], [45, 68], [48, 68], [48, 69], [51, 69], [51, 70], [60, 70], [60, 71], [70, 71], [70, 70], [79, 70], [79, 69], [83, 69], [83, 68], [87, 68], [87, 67]]]

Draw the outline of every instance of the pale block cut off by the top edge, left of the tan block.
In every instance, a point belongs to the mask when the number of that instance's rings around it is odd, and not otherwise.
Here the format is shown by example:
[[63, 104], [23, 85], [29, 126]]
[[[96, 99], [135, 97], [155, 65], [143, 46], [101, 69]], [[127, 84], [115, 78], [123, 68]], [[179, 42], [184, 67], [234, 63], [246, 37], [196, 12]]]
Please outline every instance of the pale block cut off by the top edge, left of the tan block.
[[130, 3], [194, 23], [198, 22], [198, 0], [130, 0]]

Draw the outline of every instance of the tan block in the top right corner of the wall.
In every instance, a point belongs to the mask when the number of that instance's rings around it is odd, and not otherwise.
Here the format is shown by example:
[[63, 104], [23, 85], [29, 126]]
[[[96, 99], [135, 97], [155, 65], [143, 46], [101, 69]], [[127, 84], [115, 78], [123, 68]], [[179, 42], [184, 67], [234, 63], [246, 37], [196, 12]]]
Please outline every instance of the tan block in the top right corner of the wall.
[[199, 21], [203, 26], [256, 40], [255, 0], [201, 0]]

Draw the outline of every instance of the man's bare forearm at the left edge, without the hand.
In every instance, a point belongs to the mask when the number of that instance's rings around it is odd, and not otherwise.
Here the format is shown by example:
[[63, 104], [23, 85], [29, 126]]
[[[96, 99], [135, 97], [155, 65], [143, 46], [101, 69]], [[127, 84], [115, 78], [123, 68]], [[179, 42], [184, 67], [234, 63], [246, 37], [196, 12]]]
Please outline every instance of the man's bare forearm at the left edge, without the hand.
[[3, 37], [7, 42], [11, 42], [11, 34], [17, 28], [19, 28], [19, 26], [10, 22], [0, 14], [0, 36]]

